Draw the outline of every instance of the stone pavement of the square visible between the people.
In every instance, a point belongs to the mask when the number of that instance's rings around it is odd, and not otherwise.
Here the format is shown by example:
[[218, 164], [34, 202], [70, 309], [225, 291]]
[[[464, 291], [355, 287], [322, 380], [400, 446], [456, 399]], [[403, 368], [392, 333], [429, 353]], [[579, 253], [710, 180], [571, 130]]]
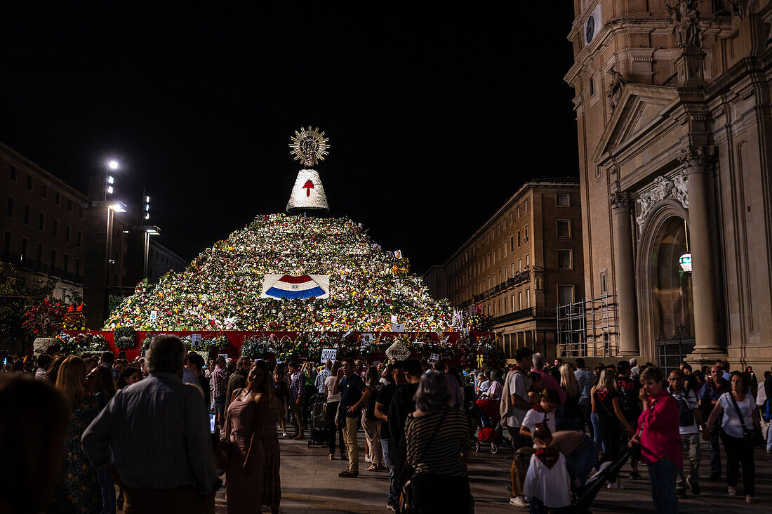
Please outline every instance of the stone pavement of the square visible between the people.
[[[282, 504], [280, 512], [388, 512], [386, 494], [388, 476], [384, 471], [364, 471], [364, 434], [360, 431], [360, 477], [339, 478], [347, 468], [340, 460], [327, 460], [327, 447], [308, 448], [307, 441], [280, 437], [282, 452]], [[491, 454], [484, 445], [472, 452], [469, 482], [475, 497], [476, 512], [528, 512], [510, 506], [506, 484], [510, 482], [512, 453], [506, 449]], [[723, 459], [726, 462], [726, 459]], [[627, 476], [629, 465], [623, 468]], [[625, 489], [604, 488], [595, 500], [592, 512], [655, 512], [645, 465], [640, 466], [642, 480], [623, 479]], [[703, 444], [703, 466], [708, 472], [707, 448]], [[763, 450], [756, 454], [756, 502], [747, 505], [742, 479], [738, 495], [726, 495], [726, 484], [701, 482], [703, 494], [679, 501], [681, 512], [772, 512], [772, 455]], [[217, 512], [225, 512], [225, 487], [217, 495]], [[264, 511], [270, 512], [270, 511]]]

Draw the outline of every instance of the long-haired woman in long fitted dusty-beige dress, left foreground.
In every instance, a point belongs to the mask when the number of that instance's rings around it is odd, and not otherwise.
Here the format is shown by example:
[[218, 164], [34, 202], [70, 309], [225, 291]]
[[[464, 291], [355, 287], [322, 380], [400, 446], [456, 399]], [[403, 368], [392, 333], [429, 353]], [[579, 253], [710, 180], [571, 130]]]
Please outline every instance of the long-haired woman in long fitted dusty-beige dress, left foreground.
[[247, 373], [246, 387], [235, 390], [225, 418], [228, 469], [225, 494], [229, 514], [261, 512], [265, 454], [260, 434], [268, 420], [270, 377], [259, 361]]

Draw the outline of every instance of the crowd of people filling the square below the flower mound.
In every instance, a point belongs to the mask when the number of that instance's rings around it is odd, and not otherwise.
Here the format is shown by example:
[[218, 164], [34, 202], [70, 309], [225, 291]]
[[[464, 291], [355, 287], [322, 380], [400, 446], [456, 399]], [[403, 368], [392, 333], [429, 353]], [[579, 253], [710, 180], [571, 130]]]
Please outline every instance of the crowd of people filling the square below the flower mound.
[[[327, 458], [345, 462], [340, 478], [360, 477], [364, 460], [365, 471], [388, 472], [388, 509], [413, 512], [473, 511], [466, 463], [483, 431], [513, 450], [510, 503], [530, 512], [563, 512], [607, 468], [606, 486], [625, 488], [640, 464], [655, 508], [677, 512], [679, 498], [701, 493], [701, 439], [709, 479], [722, 480], [723, 445], [727, 493], [737, 494], [741, 467], [753, 502], [753, 450], [764, 437], [772, 451], [770, 372], [759, 380], [722, 361], [667, 376], [636, 359], [549, 364], [527, 348], [508, 369], [471, 373], [447, 360], [205, 363], [171, 335], [132, 362], [112, 352], [0, 358], [0, 404], [34, 395], [38, 406], [0, 428], [23, 471], [2, 488], [37, 483], [23, 508], [0, 505], [8, 512], [213, 512], [223, 476], [228, 512], [278, 512], [279, 435], [321, 432]], [[623, 473], [615, 463], [628, 459]], [[5, 491], [2, 502], [19, 498]]]

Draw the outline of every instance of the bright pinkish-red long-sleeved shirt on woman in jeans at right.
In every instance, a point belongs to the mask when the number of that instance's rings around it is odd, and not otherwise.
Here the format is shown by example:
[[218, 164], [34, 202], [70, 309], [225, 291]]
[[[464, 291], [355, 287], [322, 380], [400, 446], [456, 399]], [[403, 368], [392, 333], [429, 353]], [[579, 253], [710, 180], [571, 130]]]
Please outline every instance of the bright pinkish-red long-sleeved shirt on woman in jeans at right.
[[667, 457], [683, 469], [681, 434], [678, 430], [678, 406], [666, 390], [659, 397], [648, 398], [648, 409], [638, 417], [641, 434], [641, 460], [654, 464]]

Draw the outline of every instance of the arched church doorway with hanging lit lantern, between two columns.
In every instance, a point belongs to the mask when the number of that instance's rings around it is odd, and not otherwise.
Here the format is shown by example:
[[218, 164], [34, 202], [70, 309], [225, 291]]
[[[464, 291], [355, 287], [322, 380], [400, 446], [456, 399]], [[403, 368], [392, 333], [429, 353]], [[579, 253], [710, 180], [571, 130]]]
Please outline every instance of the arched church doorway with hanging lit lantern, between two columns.
[[649, 271], [654, 333], [657, 339], [689, 339], [694, 334], [694, 302], [686, 220], [669, 216], [653, 243]]

